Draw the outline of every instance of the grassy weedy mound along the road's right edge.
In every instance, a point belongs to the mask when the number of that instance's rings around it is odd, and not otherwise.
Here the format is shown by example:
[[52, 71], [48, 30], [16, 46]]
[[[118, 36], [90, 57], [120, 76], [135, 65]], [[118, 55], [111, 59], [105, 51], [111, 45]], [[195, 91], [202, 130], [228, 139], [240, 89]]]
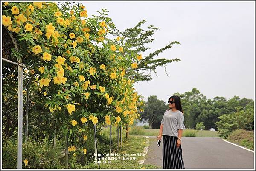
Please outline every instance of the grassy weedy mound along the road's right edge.
[[233, 131], [226, 140], [239, 146], [244, 146], [247, 149], [254, 150], [254, 131], [238, 129]]

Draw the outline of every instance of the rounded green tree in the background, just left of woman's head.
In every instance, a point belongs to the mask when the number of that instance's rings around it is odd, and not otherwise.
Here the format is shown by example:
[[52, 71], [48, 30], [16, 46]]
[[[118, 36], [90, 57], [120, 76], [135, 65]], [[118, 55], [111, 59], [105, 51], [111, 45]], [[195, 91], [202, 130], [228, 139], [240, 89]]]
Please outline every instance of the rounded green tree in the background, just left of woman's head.
[[168, 109], [168, 105], [163, 100], [158, 100], [156, 95], [149, 96], [140, 121], [147, 121], [150, 128], [152, 128], [153, 123], [160, 123], [166, 109]]

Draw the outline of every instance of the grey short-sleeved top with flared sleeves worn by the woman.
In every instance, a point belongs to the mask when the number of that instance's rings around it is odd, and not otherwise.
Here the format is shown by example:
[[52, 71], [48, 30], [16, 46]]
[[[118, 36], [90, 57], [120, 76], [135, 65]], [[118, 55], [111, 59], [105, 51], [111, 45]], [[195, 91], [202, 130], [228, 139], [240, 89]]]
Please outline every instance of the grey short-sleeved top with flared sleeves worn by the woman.
[[178, 136], [178, 129], [186, 129], [184, 125], [184, 115], [179, 110], [173, 112], [166, 110], [161, 121], [163, 124], [163, 135]]

